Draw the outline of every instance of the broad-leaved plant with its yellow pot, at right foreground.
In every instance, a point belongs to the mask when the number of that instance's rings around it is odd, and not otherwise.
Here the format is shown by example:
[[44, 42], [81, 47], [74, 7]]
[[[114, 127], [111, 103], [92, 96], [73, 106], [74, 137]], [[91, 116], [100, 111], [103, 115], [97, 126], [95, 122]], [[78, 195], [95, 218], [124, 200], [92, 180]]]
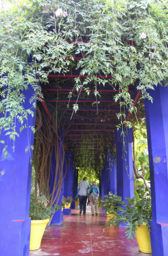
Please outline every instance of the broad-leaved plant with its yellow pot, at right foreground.
[[[107, 204], [104, 207], [109, 214], [113, 214], [113, 218], [108, 221], [106, 228], [112, 225], [116, 228], [123, 223], [127, 229], [125, 236], [129, 240], [136, 236], [139, 250], [143, 253], [151, 253], [151, 196], [146, 193], [142, 198], [139, 197], [137, 201], [135, 198], [127, 197], [126, 199], [127, 202], [124, 203], [122, 200], [115, 200], [113, 196], [106, 196], [104, 202], [106, 201]], [[117, 204], [114, 205], [114, 201]]]

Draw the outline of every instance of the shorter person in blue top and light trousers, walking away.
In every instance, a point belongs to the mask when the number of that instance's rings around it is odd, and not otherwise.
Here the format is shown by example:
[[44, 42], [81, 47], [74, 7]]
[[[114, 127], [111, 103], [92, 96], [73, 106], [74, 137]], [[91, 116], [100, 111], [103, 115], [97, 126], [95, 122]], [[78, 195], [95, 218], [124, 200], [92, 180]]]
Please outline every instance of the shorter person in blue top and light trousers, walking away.
[[88, 198], [90, 200], [90, 207], [91, 207], [91, 212], [92, 215], [98, 215], [98, 196], [99, 196], [99, 188], [96, 186], [96, 182], [92, 182], [92, 186], [90, 187], [88, 191]]

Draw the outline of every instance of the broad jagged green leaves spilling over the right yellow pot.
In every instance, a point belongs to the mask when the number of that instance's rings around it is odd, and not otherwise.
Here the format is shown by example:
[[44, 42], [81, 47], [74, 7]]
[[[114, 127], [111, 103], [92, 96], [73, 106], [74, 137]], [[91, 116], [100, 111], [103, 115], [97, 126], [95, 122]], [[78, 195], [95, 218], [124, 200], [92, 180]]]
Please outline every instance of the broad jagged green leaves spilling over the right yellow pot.
[[106, 211], [114, 215], [113, 218], [108, 221], [106, 228], [111, 227], [111, 225], [114, 225], [114, 228], [116, 228], [120, 223], [125, 224], [125, 228], [127, 229], [125, 236], [127, 236], [129, 240], [133, 239], [133, 236], [136, 234], [137, 226], [140, 227], [143, 222], [146, 223], [146, 227], [151, 231], [151, 197], [148, 193], [137, 201], [129, 197], [127, 197], [126, 203], [121, 200], [116, 200], [115, 204], [117, 204], [115, 207], [112, 207], [114, 203], [113, 196], [107, 195], [106, 200], [108, 201], [108, 205], [105, 205]]

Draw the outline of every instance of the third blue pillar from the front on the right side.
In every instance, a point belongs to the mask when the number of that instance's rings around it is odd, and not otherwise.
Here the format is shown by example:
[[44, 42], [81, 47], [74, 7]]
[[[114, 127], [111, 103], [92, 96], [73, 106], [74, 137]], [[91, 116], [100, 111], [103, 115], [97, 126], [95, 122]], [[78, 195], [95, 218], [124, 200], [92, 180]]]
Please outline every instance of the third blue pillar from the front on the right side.
[[115, 194], [116, 191], [116, 157], [113, 152], [106, 152], [106, 170], [107, 170], [107, 193]]

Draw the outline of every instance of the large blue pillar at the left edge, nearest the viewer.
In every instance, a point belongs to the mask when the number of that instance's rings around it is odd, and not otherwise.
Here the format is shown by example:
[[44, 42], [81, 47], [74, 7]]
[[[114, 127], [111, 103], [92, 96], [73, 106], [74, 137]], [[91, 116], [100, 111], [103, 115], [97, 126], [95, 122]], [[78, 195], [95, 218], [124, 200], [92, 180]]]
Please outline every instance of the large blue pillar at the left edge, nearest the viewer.
[[[32, 107], [29, 99], [33, 94], [34, 90], [29, 86], [26, 91], [25, 109]], [[34, 117], [29, 116], [25, 125], [34, 126], [36, 109], [31, 110], [34, 111]], [[0, 254], [3, 256], [29, 255], [32, 150], [29, 148], [25, 153], [25, 148], [34, 145], [34, 133], [28, 127], [21, 133], [19, 129], [20, 124], [17, 124], [20, 138], [16, 138], [14, 152], [13, 141], [4, 136], [6, 132], [2, 131], [0, 138], [5, 141], [4, 145], [8, 146], [5, 158], [3, 144], [0, 143]]]

